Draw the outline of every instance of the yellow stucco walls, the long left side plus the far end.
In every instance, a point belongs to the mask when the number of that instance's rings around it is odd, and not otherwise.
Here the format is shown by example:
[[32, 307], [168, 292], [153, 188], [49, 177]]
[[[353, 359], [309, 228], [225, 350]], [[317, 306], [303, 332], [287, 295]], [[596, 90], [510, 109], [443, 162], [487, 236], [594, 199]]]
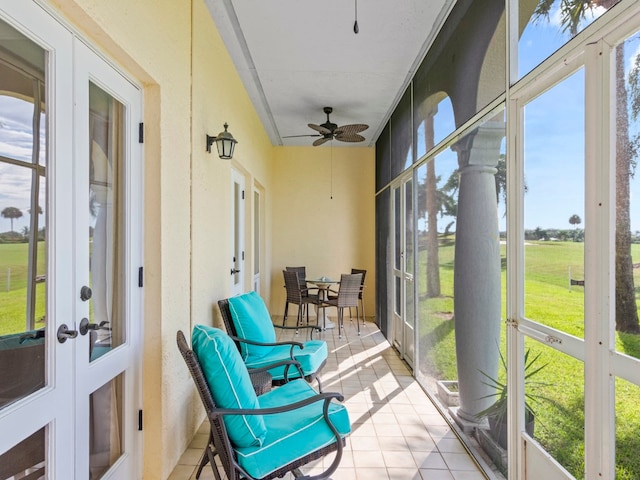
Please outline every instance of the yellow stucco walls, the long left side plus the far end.
[[[331, 177], [329, 148], [271, 146], [202, 0], [51, 5], [143, 89], [143, 478], [166, 479], [204, 418], [175, 334], [213, 323], [229, 295], [231, 168], [262, 192], [261, 293], [272, 313], [284, 304], [280, 271], [295, 263], [312, 275], [366, 268], [373, 315], [374, 151], [334, 147]], [[225, 122], [239, 141], [231, 162], [205, 152], [205, 134]]]

